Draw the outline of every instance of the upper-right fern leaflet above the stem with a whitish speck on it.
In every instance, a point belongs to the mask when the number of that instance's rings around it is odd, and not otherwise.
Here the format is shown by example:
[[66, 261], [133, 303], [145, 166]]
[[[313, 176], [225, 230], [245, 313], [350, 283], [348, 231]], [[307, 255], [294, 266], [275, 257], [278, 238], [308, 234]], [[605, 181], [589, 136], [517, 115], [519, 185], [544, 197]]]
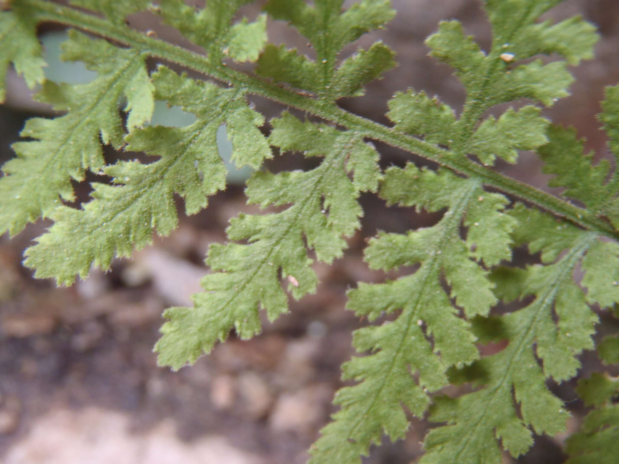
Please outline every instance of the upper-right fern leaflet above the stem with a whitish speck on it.
[[[397, 93], [389, 101], [389, 118], [395, 129], [412, 135], [425, 135], [428, 142], [446, 145], [457, 156], [477, 155], [484, 165], [496, 157], [515, 163], [517, 150], [532, 150], [548, 142], [548, 121], [539, 108], [512, 109], [495, 119], [478, 124], [483, 112], [508, 101], [530, 98], [551, 106], [568, 95], [573, 78], [565, 62], [542, 64], [537, 60], [514, 66], [537, 54], [558, 53], [571, 64], [592, 57], [597, 40], [595, 28], [579, 18], [560, 24], [536, 23], [540, 14], [556, 1], [487, 1], [493, 32], [490, 51], [484, 53], [474, 38], [464, 35], [458, 21], [441, 22], [439, 30], [426, 40], [431, 55], [456, 69], [464, 85], [467, 101], [461, 118], [425, 93]], [[578, 33], [578, 43], [571, 34]], [[563, 41], [565, 39], [565, 42]], [[573, 46], [571, 46], [573, 45]], [[453, 155], [452, 155], [453, 156]]]

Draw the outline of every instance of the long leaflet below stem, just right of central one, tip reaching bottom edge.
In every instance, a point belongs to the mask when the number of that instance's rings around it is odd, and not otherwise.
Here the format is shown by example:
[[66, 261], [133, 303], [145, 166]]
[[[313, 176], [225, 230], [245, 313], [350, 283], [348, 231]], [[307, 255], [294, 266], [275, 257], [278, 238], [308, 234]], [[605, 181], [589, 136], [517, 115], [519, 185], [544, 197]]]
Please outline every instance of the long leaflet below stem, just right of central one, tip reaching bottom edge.
[[[423, 415], [430, 402], [426, 392], [448, 384], [447, 368], [478, 358], [469, 324], [457, 317], [450, 301], [469, 317], [487, 314], [496, 303], [493, 284], [472, 259], [494, 265], [511, 257], [509, 234], [516, 221], [502, 212], [508, 201], [483, 191], [477, 181], [409, 164], [386, 171], [381, 196], [400, 205], [448, 210], [430, 228], [379, 234], [370, 241], [365, 259], [371, 268], [420, 267], [396, 281], [361, 283], [350, 291], [348, 309], [358, 316], [374, 320], [383, 312], [401, 312], [392, 322], [354, 333], [357, 351], [371, 354], [344, 364], [343, 378], [360, 383], [337, 393], [341, 410], [322, 429], [311, 450], [312, 464], [360, 462], [383, 433], [392, 440], [404, 436], [408, 421], [402, 406]], [[466, 241], [460, 238], [461, 225], [469, 227]], [[451, 293], [444, 291], [441, 278]]]

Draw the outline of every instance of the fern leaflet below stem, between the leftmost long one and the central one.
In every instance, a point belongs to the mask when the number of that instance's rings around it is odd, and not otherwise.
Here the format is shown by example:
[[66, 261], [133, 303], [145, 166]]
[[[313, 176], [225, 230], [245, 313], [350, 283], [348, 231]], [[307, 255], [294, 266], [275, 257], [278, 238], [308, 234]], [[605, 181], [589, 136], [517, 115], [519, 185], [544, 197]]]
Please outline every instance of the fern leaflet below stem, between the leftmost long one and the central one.
[[[271, 149], [258, 126], [262, 115], [251, 110], [242, 90], [196, 82], [160, 67], [152, 75], [155, 98], [180, 105], [197, 121], [187, 127], [136, 129], [128, 150], [161, 157], [149, 165], [119, 161], [103, 172], [114, 186], [93, 184], [93, 200], [83, 209], [59, 207], [55, 221], [38, 244], [26, 252], [25, 265], [37, 277], [54, 277], [70, 285], [84, 278], [92, 264], [108, 269], [115, 256], [130, 256], [152, 241], [152, 232], [169, 234], [178, 221], [174, 194], [185, 200], [188, 214], [205, 208], [209, 195], [225, 188], [226, 170], [217, 151], [217, 129], [226, 124], [236, 165], [258, 168]], [[71, 252], [67, 252], [71, 249]]]

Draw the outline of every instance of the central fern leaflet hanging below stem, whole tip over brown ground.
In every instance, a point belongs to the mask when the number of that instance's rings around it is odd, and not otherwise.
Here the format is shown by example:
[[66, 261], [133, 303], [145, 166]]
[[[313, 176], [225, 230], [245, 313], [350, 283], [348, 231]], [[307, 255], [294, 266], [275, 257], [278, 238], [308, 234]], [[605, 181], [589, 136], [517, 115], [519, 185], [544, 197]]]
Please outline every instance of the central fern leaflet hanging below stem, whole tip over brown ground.
[[301, 122], [288, 113], [271, 123], [272, 145], [324, 160], [306, 173], [253, 174], [246, 190], [249, 202], [291, 206], [280, 213], [241, 214], [231, 221], [228, 238], [249, 244], [210, 247], [207, 264], [214, 272], [202, 279], [204, 293], [193, 296], [193, 308], [165, 312], [170, 320], [155, 346], [160, 364], [178, 369], [193, 363], [218, 339], [225, 340], [233, 327], [241, 338], [256, 335], [261, 330], [259, 308], [266, 309], [269, 320], [288, 310], [280, 275], [287, 278], [294, 298], [313, 292], [318, 282], [303, 237], [319, 260], [342, 256], [342, 236], [359, 226], [359, 191], [378, 186], [378, 153], [358, 134]]

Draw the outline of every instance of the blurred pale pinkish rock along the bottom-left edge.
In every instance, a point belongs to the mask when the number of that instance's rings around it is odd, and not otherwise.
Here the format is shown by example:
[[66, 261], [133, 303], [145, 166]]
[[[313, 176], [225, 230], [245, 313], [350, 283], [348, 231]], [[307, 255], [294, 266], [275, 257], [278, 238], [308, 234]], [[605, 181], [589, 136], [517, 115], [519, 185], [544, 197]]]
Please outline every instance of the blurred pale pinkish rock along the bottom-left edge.
[[266, 464], [222, 436], [183, 442], [169, 421], [141, 434], [130, 428], [130, 417], [114, 411], [52, 410], [11, 445], [2, 464]]

